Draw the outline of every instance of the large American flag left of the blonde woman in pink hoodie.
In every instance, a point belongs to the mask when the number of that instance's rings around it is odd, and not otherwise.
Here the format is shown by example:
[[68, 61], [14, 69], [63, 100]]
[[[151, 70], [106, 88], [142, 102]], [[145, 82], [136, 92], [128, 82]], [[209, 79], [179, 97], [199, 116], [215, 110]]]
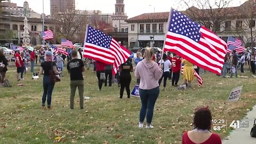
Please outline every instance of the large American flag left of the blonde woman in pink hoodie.
[[85, 58], [113, 65], [113, 74], [117, 73], [117, 68], [131, 55], [114, 38], [91, 26], [87, 26], [84, 47]]

